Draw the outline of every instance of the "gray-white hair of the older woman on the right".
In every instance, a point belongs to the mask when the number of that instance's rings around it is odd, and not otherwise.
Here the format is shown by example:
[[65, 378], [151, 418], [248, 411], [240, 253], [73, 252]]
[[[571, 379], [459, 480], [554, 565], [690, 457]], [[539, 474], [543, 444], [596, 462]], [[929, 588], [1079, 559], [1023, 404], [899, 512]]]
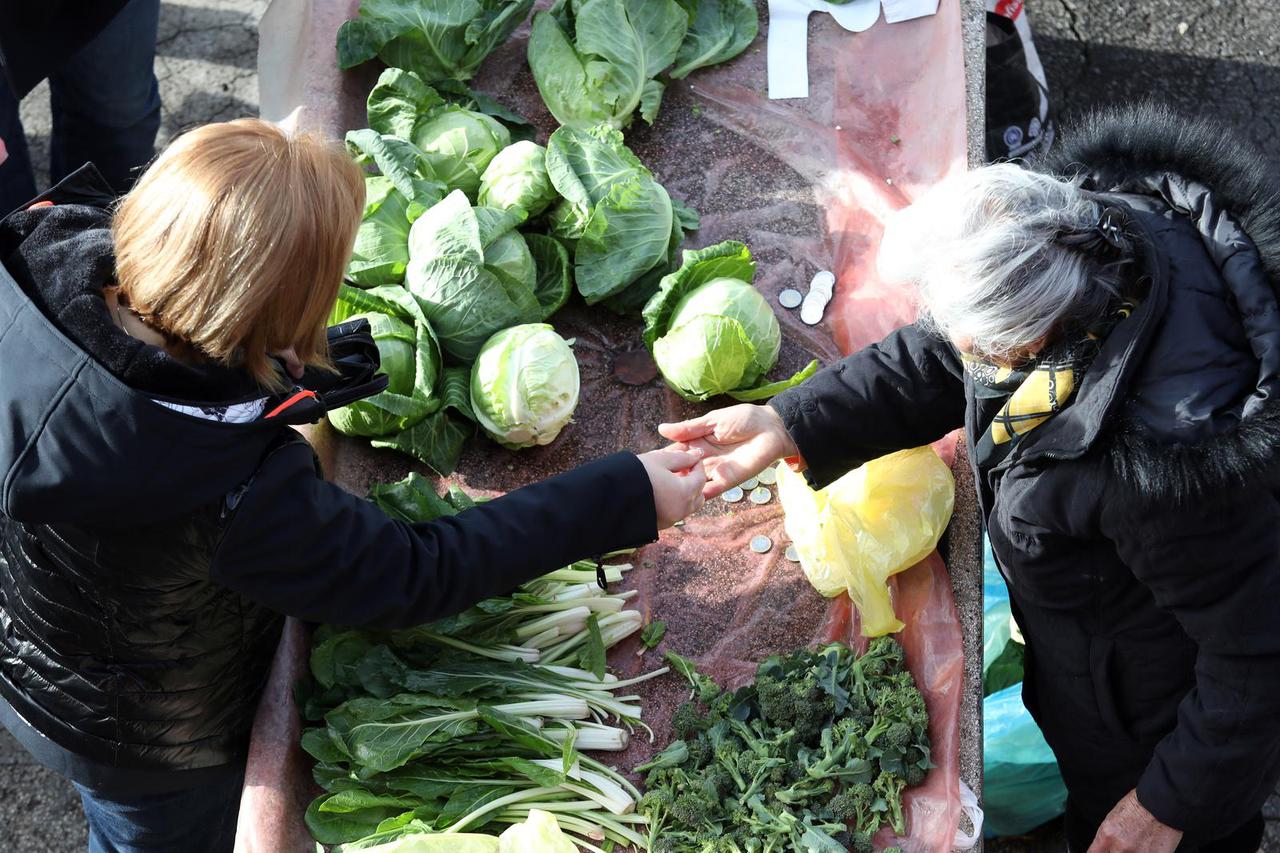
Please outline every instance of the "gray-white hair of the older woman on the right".
[[973, 169], [890, 218], [879, 273], [915, 284], [932, 330], [975, 353], [1015, 355], [1106, 315], [1117, 265], [1061, 240], [1092, 231], [1101, 213], [1075, 181]]

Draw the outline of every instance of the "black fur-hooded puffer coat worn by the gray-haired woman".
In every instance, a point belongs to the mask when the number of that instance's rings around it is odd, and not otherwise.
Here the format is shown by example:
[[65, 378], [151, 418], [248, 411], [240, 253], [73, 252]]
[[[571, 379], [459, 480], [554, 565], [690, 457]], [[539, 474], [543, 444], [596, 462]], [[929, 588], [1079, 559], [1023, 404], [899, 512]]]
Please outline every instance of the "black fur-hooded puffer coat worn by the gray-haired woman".
[[[1129, 211], [1148, 291], [1074, 401], [975, 471], [1024, 698], [1088, 835], [1137, 788], [1202, 844], [1280, 777], [1280, 192], [1221, 128], [1151, 108], [1044, 168]], [[972, 447], [995, 415], [916, 327], [773, 405], [819, 483], [960, 425]]]

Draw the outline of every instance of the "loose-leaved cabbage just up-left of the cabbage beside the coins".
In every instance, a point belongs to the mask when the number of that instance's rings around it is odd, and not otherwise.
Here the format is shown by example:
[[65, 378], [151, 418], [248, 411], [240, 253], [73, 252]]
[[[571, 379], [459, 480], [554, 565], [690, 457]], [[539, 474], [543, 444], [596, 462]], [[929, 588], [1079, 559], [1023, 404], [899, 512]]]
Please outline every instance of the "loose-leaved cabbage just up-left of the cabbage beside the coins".
[[617, 297], [654, 270], [664, 270], [672, 243], [696, 214], [672, 204], [622, 141], [605, 126], [563, 127], [547, 143], [547, 172], [563, 200], [552, 232], [573, 241], [573, 278], [588, 304]]

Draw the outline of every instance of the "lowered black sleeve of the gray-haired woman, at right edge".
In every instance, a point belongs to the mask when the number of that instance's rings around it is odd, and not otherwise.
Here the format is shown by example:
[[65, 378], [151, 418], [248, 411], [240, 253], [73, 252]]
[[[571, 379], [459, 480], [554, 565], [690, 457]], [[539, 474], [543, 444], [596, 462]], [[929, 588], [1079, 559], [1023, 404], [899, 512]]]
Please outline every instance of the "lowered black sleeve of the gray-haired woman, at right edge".
[[1144, 519], [1116, 507], [1103, 532], [1198, 647], [1196, 686], [1138, 802], [1193, 843], [1221, 836], [1280, 777], [1280, 502], [1252, 488]]

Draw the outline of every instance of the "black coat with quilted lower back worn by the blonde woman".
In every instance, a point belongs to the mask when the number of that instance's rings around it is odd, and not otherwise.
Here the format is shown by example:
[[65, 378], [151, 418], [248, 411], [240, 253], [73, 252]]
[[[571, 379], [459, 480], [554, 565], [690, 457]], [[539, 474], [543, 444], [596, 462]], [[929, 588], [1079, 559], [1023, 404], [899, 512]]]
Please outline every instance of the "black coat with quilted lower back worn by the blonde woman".
[[0, 722], [77, 781], [142, 793], [242, 770], [282, 613], [415, 625], [657, 535], [630, 453], [393, 521], [321, 480], [287, 419], [156, 402], [262, 392], [111, 324], [102, 209], [9, 216], [0, 261]]

